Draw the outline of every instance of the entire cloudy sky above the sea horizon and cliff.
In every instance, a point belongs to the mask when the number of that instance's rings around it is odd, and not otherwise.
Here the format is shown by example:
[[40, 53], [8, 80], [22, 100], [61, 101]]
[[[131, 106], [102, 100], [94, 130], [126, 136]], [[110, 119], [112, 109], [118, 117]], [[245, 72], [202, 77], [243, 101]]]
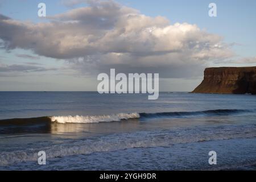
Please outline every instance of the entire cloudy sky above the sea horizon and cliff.
[[[212, 2], [216, 17], [208, 15]], [[255, 7], [254, 0], [0, 0], [0, 91], [95, 91], [97, 75], [115, 68], [159, 73], [160, 91], [189, 92], [207, 67], [256, 65]]]

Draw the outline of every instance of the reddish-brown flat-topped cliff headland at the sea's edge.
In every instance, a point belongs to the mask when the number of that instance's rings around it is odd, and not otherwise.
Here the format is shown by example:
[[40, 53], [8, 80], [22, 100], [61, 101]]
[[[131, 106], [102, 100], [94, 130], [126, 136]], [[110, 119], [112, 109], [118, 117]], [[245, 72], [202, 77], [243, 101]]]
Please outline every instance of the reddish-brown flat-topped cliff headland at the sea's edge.
[[192, 93], [256, 94], [256, 67], [206, 68], [203, 82]]

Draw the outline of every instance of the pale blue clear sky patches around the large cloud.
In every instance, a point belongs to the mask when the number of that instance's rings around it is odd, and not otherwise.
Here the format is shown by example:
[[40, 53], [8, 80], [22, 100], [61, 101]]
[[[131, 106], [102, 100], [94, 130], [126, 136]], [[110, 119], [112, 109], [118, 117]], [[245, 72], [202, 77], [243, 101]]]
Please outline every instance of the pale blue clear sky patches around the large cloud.
[[[87, 6], [85, 3], [81, 3], [75, 6], [65, 6], [62, 1], [2, 0], [0, 1], [0, 14], [9, 16], [12, 19], [19, 20], [20, 22], [48, 22], [49, 20], [42, 19], [37, 16], [37, 6], [40, 2], [46, 3], [47, 16], [61, 14], [67, 12], [68, 10], [76, 9], [77, 7]], [[231, 48], [236, 56], [230, 59], [255, 57], [256, 1], [119, 0], [117, 2], [121, 3], [121, 5], [137, 9], [140, 11], [141, 14], [144, 14], [146, 16], [164, 16], [168, 20], [170, 20], [171, 24], [174, 24], [176, 22], [196, 24], [201, 30], [205, 30], [209, 33], [221, 36], [222, 38], [224, 38], [224, 42], [226, 44], [233, 45]], [[214, 2], [217, 5], [217, 17], [214, 18], [210, 18], [208, 16], [208, 5], [211, 2]], [[69, 69], [69, 64], [67, 64], [67, 60], [65, 59], [56, 59], [55, 57], [38, 55], [30, 49], [23, 48], [11, 49], [7, 52], [5, 49], [0, 49], [0, 55], [0, 61], [5, 64], [20, 64], [33, 62], [37, 64], [42, 64], [46, 68], [65, 68], [62, 71], [58, 71], [57, 73], [54, 70], [48, 71], [46, 74], [47, 76], [44, 76], [43, 72], [38, 74], [29, 73], [27, 75], [26, 73], [22, 73], [22, 76], [19, 77], [15, 77], [12, 75], [1, 76], [0, 83], [2, 83], [2, 86], [0, 90], [44, 90], [44, 88], [46, 88], [46, 90], [95, 90], [95, 84], [93, 84], [94, 78], [90, 78], [90, 76], [82, 76], [80, 74], [76, 74], [75, 71]], [[17, 55], [32, 55], [35, 57], [38, 56], [40, 58], [28, 60], [26, 57], [19, 57], [19, 59], [17, 59]], [[212, 62], [208, 65], [216, 67], [252, 66], [255, 65], [255, 63], [222, 64], [220, 61], [217, 64]], [[31, 78], [31, 75], [33, 78]], [[24, 81], [26, 80], [24, 78], [26, 78], [28, 81]], [[201, 77], [192, 80], [189, 78], [179, 78], [179, 80], [175, 79], [176, 78], [163, 80], [162, 90], [189, 91], [201, 81]], [[89, 83], [88, 86], [85, 86], [83, 84], [84, 81]], [[164, 86], [167, 84], [169, 84], [170, 86]]]

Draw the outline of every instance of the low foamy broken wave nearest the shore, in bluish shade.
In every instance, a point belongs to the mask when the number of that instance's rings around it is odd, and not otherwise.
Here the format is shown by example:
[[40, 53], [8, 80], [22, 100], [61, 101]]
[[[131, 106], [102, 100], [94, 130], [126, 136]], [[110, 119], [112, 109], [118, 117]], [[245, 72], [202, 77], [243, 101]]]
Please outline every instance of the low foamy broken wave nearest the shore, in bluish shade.
[[178, 143], [207, 142], [211, 140], [227, 140], [237, 138], [255, 138], [255, 125], [242, 127], [222, 126], [180, 129], [170, 131], [137, 131], [135, 133], [111, 134], [98, 138], [84, 138], [65, 143], [52, 143], [43, 146], [39, 143], [18, 151], [0, 151], [0, 166], [18, 162], [37, 161], [38, 151], [45, 151], [47, 158], [58, 158], [93, 152], [125, 150], [127, 148], [170, 147]]

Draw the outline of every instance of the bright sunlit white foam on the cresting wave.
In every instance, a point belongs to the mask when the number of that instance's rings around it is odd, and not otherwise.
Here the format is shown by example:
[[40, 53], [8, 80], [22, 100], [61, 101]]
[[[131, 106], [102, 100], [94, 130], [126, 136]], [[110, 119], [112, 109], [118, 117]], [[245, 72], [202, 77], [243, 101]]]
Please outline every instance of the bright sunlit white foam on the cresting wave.
[[58, 123], [98, 123], [98, 122], [112, 122], [121, 121], [121, 119], [139, 118], [138, 113], [119, 113], [110, 115], [67, 115], [67, 116], [53, 116], [50, 117], [52, 122]]

